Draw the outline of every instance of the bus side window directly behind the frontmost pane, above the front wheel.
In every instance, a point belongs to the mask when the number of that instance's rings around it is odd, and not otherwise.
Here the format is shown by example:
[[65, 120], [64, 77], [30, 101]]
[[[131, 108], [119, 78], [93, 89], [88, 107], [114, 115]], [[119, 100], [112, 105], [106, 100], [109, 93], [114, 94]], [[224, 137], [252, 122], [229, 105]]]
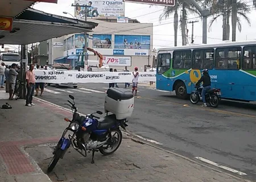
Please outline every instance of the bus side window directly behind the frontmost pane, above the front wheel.
[[174, 69], [190, 69], [191, 68], [191, 50], [174, 51]]

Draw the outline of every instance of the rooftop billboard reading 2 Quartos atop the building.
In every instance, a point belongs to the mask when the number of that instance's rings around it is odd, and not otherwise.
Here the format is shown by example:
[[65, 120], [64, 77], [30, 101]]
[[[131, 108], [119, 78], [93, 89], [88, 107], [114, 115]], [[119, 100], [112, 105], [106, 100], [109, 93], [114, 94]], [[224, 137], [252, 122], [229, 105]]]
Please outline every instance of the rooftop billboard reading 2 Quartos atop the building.
[[87, 5], [87, 17], [97, 16], [125, 16], [125, 2], [123, 1], [75, 1], [75, 17], [85, 17]]

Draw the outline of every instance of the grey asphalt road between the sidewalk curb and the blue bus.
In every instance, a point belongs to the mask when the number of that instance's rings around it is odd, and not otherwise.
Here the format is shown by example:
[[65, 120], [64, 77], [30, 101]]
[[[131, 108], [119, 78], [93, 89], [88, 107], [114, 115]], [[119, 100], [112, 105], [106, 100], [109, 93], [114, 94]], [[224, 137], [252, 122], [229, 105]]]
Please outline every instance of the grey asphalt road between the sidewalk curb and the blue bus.
[[[123, 85], [121, 85], [123, 86]], [[108, 84], [79, 88], [47, 86], [42, 98], [64, 106], [68, 94], [80, 113], [104, 111]], [[256, 179], [256, 105], [222, 101], [217, 109], [192, 105], [174, 94], [140, 87], [127, 130], [160, 143], [160, 147], [189, 158], [201, 157]]]

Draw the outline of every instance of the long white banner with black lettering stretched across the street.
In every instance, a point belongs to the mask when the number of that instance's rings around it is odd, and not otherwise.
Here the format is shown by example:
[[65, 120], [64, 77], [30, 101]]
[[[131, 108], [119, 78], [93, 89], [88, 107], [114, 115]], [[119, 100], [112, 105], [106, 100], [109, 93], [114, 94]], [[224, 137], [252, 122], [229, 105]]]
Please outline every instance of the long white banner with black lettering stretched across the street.
[[[74, 72], [34, 70], [36, 82], [68, 83], [124, 83], [132, 82], [133, 72]], [[139, 72], [139, 82], [156, 81], [156, 72]]]

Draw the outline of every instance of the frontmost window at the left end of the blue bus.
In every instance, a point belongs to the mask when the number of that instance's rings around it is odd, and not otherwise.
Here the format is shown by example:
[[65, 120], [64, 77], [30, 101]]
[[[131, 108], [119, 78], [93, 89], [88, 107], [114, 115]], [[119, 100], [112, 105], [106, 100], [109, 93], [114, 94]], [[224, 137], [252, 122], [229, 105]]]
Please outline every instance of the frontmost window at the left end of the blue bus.
[[170, 53], [159, 53], [158, 55], [158, 74], [162, 74], [170, 69], [171, 65], [171, 54]]

